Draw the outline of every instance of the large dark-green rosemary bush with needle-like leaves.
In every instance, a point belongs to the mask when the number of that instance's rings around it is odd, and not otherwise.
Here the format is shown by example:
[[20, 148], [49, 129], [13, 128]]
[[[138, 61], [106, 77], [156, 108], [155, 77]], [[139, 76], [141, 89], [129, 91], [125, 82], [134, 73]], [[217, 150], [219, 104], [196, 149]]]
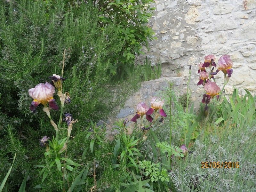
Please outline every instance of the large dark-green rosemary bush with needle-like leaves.
[[[118, 99], [114, 100], [107, 86], [113, 86], [109, 70], [119, 58], [124, 40], [118, 35], [117, 23], [108, 22], [104, 26], [99, 23], [98, 9], [91, 3], [71, 6], [60, 0], [0, 2], [1, 172], [8, 171], [12, 163], [10, 158], [17, 153], [8, 191], [21, 184], [29, 166], [47, 164], [39, 139], [44, 135], [52, 138], [52, 125], [41, 105], [31, 114], [32, 98], [28, 89], [50, 82], [48, 77], [54, 73], [61, 74], [64, 51], [63, 76], [68, 78], [63, 86], [71, 96], [71, 103], [65, 106], [64, 112], [79, 120], [72, 133], [77, 134], [76, 137], [83, 138], [79, 131], [87, 127], [90, 119], [97, 121], [107, 117], [121, 103], [119, 95], [122, 94], [124, 100], [135, 87], [127, 83], [138, 79], [137, 73], [125, 82], [116, 83], [124, 88], [117, 92]], [[57, 104], [60, 106], [58, 100]], [[51, 111], [51, 116], [58, 121], [58, 112]], [[65, 131], [60, 133], [62, 138], [65, 134]], [[81, 142], [80, 145], [87, 144]], [[72, 152], [70, 156], [76, 158], [81, 151], [74, 149]], [[33, 167], [29, 171], [29, 191], [41, 183], [37, 170]], [[74, 175], [77, 172], [74, 171]], [[3, 177], [1, 174], [0, 180]], [[51, 174], [49, 180], [57, 186], [59, 175]]]

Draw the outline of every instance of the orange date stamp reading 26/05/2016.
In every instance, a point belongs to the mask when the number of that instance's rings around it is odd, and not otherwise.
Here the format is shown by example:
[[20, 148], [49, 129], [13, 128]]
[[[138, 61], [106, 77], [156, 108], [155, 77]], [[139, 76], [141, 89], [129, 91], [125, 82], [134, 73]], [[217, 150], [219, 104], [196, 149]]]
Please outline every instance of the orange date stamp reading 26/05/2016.
[[202, 161], [201, 162], [201, 169], [231, 169], [231, 168], [239, 168], [239, 162], [231, 162], [231, 161]]

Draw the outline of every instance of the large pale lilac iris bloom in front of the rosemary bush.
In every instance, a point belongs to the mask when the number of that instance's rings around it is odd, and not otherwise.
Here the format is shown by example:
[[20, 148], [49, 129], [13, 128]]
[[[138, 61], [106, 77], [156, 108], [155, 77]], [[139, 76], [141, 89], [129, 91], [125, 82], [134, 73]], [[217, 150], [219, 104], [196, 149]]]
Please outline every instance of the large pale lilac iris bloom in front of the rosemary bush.
[[55, 110], [58, 110], [58, 106], [56, 101], [53, 99], [53, 94], [55, 90], [54, 87], [49, 83], [39, 83], [36, 87], [29, 89], [28, 94], [34, 100], [30, 105], [30, 110], [36, 112], [36, 107], [41, 103], [46, 107], [47, 103], [49, 103], [49, 107]]

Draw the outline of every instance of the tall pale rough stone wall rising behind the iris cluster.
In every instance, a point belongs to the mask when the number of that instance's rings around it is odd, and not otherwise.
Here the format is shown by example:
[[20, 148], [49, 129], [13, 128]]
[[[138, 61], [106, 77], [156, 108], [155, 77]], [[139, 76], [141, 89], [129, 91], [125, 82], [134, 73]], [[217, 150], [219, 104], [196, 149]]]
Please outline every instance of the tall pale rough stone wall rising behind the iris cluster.
[[[203, 86], [197, 86], [198, 64], [213, 54], [217, 60], [228, 54], [233, 60], [233, 74], [225, 87], [256, 91], [256, 0], [156, 0], [155, 15], [148, 25], [158, 38], [149, 43], [146, 56], [152, 64], [161, 63], [162, 77], [180, 76], [186, 92], [189, 65], [192, 100], [199, 103]], [[222, 88], [223, 73], [216, 76]], [[196, 105], [195, 105], [196, 106]]]

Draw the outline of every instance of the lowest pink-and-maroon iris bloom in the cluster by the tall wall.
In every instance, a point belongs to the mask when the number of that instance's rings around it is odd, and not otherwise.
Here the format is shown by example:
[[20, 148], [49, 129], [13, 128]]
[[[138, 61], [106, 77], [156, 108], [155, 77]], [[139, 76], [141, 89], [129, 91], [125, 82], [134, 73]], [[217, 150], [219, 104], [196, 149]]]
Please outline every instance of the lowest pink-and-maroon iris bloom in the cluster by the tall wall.
[[204, 90], [206, 91], [206, 94], [204, 94], [202, 103], [208, 104], [214, 96], [216, 96], [217, 99], [220, 97], [220, 87], [215, 82], [209, 81], [204, 84]]

